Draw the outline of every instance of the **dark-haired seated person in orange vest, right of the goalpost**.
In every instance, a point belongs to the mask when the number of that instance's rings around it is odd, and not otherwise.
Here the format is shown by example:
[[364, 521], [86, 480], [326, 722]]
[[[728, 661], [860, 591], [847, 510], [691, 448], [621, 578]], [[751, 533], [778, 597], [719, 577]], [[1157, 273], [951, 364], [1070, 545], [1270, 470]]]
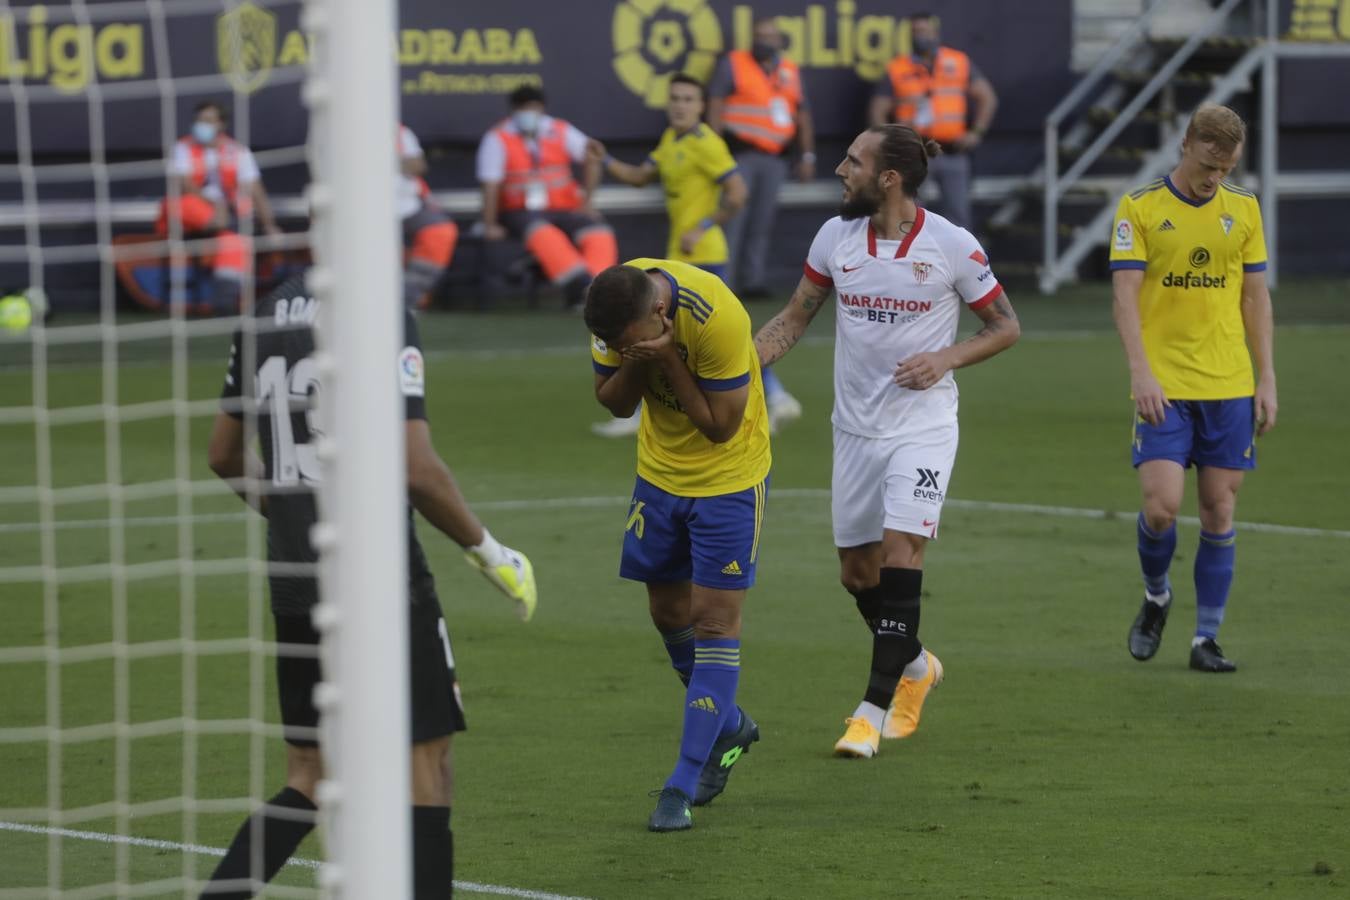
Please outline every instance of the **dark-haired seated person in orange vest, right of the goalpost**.
[[[478, 144], [483, 237], [522, 240], [544, 275], [563, 286], [567, 308], [580, 309], [591, 278], [618, 262], [614, 231], [590, 205], [599, 163], [586, 158], [586, 135], [544, 113], [543, 90], [521, 85], [509, 101], [510, 117]], [[583, 162], [585, 188], [572, 177], [572, 165]]]

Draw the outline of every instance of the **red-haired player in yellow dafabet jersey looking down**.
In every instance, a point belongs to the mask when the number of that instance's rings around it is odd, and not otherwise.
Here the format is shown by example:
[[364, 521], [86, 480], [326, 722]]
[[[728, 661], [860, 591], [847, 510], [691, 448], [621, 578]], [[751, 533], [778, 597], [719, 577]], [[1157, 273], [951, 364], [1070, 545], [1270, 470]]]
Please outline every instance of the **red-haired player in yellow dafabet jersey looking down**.
[[[1134, 394], [1139, 564], [1145, 599], [1130, 653], [1152, 658], [1172, 607], [1168, 568], [1185, 470], [1196, 467], [1200, 548], [1191, 668], [1233, 672], [1216, 638], [1233, 584], [1238, 487], [1256, 437], [1274, 426], [1273, 316], [1261, 208], [1224, 178], [1246, 140], [1242, 119], [1206, 104], [1169, 175], [1120, 198], [1111, 236], [1115, 324]], [[1256, 363], [1256, 378], [1251, 367]]]

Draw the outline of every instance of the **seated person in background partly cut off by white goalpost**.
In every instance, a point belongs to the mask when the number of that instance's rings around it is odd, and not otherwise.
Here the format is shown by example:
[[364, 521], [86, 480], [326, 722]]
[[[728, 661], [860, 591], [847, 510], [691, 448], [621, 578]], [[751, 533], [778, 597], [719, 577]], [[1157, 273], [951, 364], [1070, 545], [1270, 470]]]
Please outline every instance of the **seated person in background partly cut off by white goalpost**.
[[398, 125], [398, 217], [404, 223], [404, 308], [427, 306], [455, 258], [459, 228], [431, 198], [427, 157], [417, 135]]

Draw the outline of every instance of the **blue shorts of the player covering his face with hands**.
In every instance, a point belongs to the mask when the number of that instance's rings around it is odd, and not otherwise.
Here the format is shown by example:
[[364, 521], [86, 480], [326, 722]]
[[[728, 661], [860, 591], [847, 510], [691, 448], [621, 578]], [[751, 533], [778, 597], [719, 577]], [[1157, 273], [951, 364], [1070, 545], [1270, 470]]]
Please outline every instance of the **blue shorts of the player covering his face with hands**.
[[724, 591], [752, 587], [767, 497], [767, 478], [717, 497], [676, 497], [639, 478], [624, 525], [620, 578], [691, 580]]

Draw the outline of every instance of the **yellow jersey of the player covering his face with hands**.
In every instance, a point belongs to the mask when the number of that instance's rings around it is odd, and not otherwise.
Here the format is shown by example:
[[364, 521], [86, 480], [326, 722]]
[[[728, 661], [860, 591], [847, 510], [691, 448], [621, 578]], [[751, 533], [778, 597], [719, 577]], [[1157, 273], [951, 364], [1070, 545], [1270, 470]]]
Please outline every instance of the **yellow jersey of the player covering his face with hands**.
[[[643, 424], [637, 432], [637, 474], [678, 497], [716, 497], [751, 488], [768, 475], [771, 455], [764, 382], [751, 332], [751, 317], [717, 275], [670, 259], [624, 263], [659, 271], [670, 282], [675, 345], [694, 381], [705, 391], [749, 385], [741, 428], [725, 444], [707, 440], [680, 407], [675, 389], [656, 366], [643, 391]], [[597, 372], [618, 371], [622, 356], [591, 337]]]

